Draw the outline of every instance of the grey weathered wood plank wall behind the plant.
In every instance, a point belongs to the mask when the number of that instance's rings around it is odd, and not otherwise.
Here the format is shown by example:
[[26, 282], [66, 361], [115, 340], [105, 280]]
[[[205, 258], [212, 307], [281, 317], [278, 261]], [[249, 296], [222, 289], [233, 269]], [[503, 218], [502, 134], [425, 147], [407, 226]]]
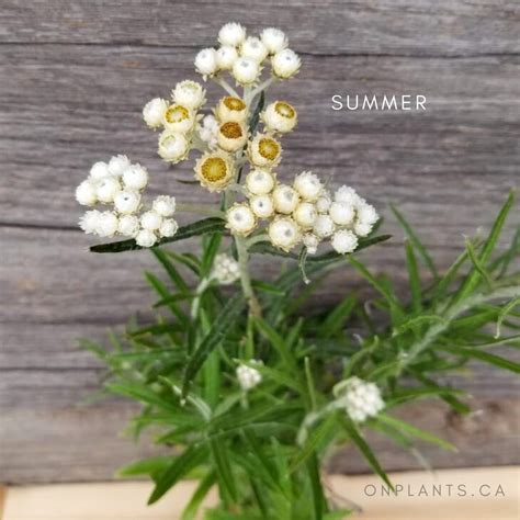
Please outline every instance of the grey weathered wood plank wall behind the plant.
[[[380, 208], [396, 202], [445, 267], [462, 235], [488, 226], [519, 184], [519, 16], [506, 0], [2, 0], [0, 481], [104, 479], [148, 452], [115, 437], [127, 403], [79, 406], [99, 366], [76, 339], [102, 338], [147, 310], [140, 272], [151, 261], [146, 252], [89, 255], [72, 192], [92, 162], [126, 152], [154, 172], [152, 191], [201, 196], [174, 182], [189, 169], [168, 171], [156, 157], [140, 110], [195, 77], [196, 50], [223, 23], [280, 26], [302, 54], [297, 79], [278, 88], [301, 114], [282, 172], [314, 169]], [[332, 112], [330, 97], [346, 92], [421, 93], [428, 110]], [[387, 228], [397, 230], [391, 219]], [[398, 282], [400, 238], [370, 257]], [[341, 276], [329, 299], [355, 283]], [[520, 462], [513, 378], [478, 368], [466, 384], [481, 410], [468, 419], [441, 407], [406, 412], [460, 445], [455, 455], [427, 455], [439, 467]], [[388, 470], [416, 466], [374, 443]], [[332, 465], [365, 470], [350, 452]]]

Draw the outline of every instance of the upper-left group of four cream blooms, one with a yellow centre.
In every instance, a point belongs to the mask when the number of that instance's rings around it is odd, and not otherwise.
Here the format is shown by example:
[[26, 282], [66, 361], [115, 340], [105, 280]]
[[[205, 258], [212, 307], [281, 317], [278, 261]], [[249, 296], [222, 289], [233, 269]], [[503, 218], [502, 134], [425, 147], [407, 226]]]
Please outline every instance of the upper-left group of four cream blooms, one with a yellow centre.
[[184, 80], [171, 92], [172, 101], [155, 98], [143, 109], [145, 123], [154, 129], [163, 128], [159, 135], [158, 152], [167, 162], [184, 160], [192, 148], [192, 139], [204, 104], [205, 90], [201, 83]]

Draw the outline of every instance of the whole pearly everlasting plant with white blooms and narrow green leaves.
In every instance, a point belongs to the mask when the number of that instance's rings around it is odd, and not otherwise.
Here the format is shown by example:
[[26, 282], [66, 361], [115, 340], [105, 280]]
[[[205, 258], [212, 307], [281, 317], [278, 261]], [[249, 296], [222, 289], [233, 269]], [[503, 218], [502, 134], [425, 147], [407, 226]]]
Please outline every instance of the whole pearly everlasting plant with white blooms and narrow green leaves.
[[[150, 200], [146, 190], [159, 185], [159, 174], [124, 155], [95, 162], [76, 190], [89, 206], [81, 229], [124, 238], [92, 251], [150, 249], [165, 269], [166, 280], [146, 273], [156, 323], [112, 336], [113, 350], [84, 344], [109, 368], [106, 391], [143, 404], [131, 431], [138, 437], [149, 428], [162, 446], [122, 474], [152, 478], [150, 504], [181, 478], [200, 479], [183, 520], [195, 518], [212, 487], [219, 504], [207, 519], [343, 518], [344, 501], [323, 478], [338, 445], [355, 446], [392, 486], [366, 430], [412, 454], [417, 441], [453, 449], [394, 409], [437, 398], [466, 414], [463, 391], [443, 374], [471, 359], [519, 370], [486, 350], [519, 346], [520, 233], [494, 256], [512, 193], [489, 235], [467, 239], [445, 274], [395, 210], [408, 237], [409, 296], [402, 297], [388, 276], [354, 256], [389, 238], [376, 235], [375, 207], [352, 186], [336, 186], [328, 172], [281, 173], [297, 106], [267, 92], [301, 66], [281, 30], [251, 35], [228, 23], [216, 46], [194, 58], [202, 78], [181, 80], [169, 97], [145, 104], [159, 157], [172, 167], [191, 161], [192, 183], [213, 203], [185, 203], [178, 193]], [[224, 92], [213, 99], [208, 81]], [[200, 218], [179, 226], [185, 214]], [[197, 253], [180, 245], [194, 237], [202, 240]], [[340, 302], [317, 296], [339, 269]], [[353, 272], [374, 290], [368, 299], [355, 293]]]

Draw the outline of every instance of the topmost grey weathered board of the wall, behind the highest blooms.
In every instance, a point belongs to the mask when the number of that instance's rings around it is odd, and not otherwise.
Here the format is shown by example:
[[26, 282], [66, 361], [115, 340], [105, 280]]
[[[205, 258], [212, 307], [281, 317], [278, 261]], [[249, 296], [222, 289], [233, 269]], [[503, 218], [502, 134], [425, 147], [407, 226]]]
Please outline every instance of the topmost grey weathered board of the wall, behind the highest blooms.
[[312, 54], [462, 55], [515, 53], [518, 3], [511, 0], [205, 2], [4, 0], [0, 39], [26, 43], [215, 45], [236, 20], [286, 30], [294, 48]]

